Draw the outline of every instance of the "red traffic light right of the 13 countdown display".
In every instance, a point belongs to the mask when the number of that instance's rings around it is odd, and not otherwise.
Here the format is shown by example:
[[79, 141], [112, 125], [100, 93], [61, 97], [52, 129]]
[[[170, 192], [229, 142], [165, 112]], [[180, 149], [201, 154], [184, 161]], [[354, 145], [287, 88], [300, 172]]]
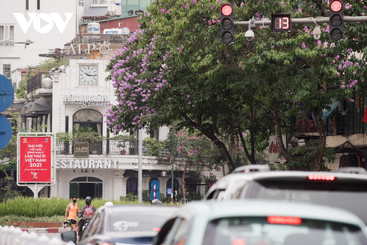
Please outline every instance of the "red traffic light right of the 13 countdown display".
[[329, 5], [330, 40], [344, 39], [344, 5], [343, 0], [331, 0]]

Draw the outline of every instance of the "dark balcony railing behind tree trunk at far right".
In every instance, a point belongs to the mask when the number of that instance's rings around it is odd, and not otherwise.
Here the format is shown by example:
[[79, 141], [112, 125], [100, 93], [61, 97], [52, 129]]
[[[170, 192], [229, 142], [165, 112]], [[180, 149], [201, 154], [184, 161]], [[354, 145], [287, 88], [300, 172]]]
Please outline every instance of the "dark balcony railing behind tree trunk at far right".
[[[340, 112], [335, 109], [324, 120], [327, 135], [349, 135], [366, 133], [367, 123], [362, 122], [365, 109]], [[291, 134], [318, 133], [312, 113], [306, 116], [299, 112], [291, 116]]]

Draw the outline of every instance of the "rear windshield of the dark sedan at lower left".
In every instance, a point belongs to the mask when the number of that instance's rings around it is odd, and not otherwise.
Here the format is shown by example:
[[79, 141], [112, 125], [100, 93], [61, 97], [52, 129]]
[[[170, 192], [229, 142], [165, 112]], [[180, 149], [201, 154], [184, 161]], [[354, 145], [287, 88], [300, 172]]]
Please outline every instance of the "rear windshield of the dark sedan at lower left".
[[111, 231], [159, 231], [171, 212], [113, 213]]

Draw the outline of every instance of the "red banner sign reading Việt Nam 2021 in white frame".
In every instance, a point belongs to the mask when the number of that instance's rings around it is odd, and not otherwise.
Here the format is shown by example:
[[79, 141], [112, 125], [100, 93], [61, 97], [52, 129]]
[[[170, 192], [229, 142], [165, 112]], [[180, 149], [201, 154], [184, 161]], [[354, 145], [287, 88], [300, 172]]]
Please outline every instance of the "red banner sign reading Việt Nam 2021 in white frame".
[[20, 137], [19, 183], [51, 183], [51, 137]]

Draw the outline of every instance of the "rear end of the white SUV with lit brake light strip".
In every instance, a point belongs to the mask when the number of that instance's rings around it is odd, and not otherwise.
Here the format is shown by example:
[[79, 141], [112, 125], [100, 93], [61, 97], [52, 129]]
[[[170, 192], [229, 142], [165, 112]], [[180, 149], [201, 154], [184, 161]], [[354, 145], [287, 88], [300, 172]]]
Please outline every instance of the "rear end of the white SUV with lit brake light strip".
[[254, 173], [232, 199], [330, 205], [349, 210], [367, 224], [367, 174], [362, 168]]

